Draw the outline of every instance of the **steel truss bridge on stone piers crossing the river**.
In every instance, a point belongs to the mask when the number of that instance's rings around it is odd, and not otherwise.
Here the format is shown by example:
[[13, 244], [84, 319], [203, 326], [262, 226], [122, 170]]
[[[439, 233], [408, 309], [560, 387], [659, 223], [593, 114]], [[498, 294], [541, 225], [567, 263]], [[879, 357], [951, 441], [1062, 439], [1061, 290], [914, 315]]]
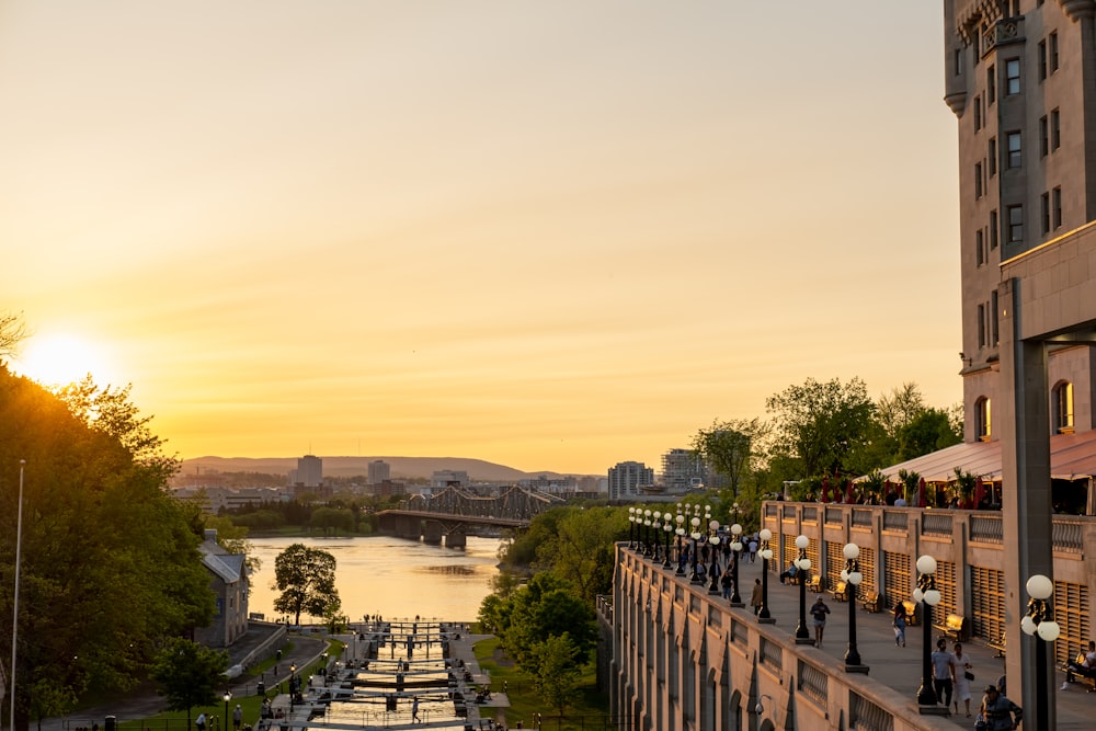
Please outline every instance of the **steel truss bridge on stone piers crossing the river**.
[[563, 502], [562, 498], [517, 487], [498, 495], [449, 487], [434, 495], [413, 495], [404, 509], [377, 513], [377, 524], [386, 535], [463, 548], [468, 526], [524, 530], [535, 516]]

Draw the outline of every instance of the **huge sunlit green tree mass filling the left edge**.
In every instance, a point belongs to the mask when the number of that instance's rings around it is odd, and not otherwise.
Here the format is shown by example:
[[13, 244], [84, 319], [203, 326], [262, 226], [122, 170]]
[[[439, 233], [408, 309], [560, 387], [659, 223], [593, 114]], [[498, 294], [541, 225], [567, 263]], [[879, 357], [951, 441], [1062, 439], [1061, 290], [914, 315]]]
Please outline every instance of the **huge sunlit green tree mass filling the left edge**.
[[[89, 402], [95, 392], [89, 384]], [[148, 420], [126, 392], [111, 391], [104, 402], [107, 413], [128, 413], [128, 421], [91, 418], [0, 366], [0, 566], [14, 562], [13, 488], [19, 461], [26, 460], [20, 730], [47, 706], [128, 689], [145, 675], [158, 642], [208, 625], [215, 610], [197, 551], [199, 523], [164, 491], [172, 460], [134, 438]], [[0, 614], [11, 616], [11, 593], [0, 591]], [[10, 652], [0, 638], [0, 655]]]

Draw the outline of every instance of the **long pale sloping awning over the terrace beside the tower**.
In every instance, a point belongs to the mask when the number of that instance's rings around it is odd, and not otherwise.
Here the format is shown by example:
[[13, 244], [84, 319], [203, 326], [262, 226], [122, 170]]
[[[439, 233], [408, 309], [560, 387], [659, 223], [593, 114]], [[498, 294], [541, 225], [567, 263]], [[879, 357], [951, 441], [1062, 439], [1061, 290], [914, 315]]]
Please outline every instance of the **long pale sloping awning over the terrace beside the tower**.
[[[891, 482], [899, 481], [903, 469], [920, 473], [927, 482], [950, 482], [956, 479], [956, 467], [983, 480], [1001, 480], [1001, 442], [957, 444], [880, 471]], [[1050, 437], [1050, 476], [1059, 480], [1096, 476], [1096, 431]]]

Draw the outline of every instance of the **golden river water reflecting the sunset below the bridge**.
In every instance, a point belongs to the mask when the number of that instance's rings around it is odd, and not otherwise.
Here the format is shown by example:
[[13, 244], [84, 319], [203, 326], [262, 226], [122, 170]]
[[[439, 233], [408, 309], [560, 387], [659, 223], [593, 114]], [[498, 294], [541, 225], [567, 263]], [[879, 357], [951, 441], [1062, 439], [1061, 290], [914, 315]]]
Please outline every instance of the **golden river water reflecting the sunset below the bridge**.
[[[429, 546], [391, 536], [355, 538], [250, 538], [262, 568], [251, 576], [248, 610], [279, 619], [274, 612], [277, 590], [274, 559], [293, 544], [319, 548], [335, 559], [335, 589], [342, 614], [351, 621], [380, 614], [387, 619], [412, 618], [475, 621], [480, 603], [499, 573], [498, 538], [468, 537], [464, 549]], [[293, 619], [292, 617], [289, 618]], [[304, 624], [322, 621], [300, 616]]]

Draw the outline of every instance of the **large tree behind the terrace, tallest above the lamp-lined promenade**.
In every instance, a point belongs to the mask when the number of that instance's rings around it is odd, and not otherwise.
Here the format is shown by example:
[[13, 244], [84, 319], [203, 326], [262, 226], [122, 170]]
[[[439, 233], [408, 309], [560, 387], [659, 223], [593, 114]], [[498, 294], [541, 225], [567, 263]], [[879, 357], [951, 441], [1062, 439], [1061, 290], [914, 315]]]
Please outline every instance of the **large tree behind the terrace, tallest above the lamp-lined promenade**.
[[776, 416], [776, 446], [798, 460], [800, 477], [844, 471], [845, 460], [868, 434], [875, 404], [859, 378], [825, 384], [808, 378], [765, 401]]

